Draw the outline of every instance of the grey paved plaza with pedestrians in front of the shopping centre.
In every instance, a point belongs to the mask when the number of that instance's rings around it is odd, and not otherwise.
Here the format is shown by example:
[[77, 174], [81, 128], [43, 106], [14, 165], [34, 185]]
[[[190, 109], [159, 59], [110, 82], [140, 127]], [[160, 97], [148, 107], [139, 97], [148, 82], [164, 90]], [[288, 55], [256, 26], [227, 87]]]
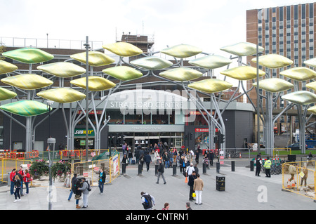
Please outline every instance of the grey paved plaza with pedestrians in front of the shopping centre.
[[[202, 205], [190, 202], [193, 210], [315, 210], [316, 203], [308, 197], [291, 192], [282, 191], [282, 174], [265, 178], [250, 171], [249, 159], [234, 159], [235, 171], [231, 169], [231, 161], [225, 159], [220, 166], [220, 173], [216, 172], [216, 160], [211, 169], [202, 172], [202, 163], [198, 165], [199, 173], [204, 181]], [[147, 192], [154, 196], [154, 209], [162, 210], [164, 203], [170, 204], [169, 210], [185, 210], [185, 202], [189, 202], [189, 186], [185, 177], [177, 169], [173, 176], [173, 169], [165, 169], [164, 176], [157, 184], [154, 164], [150, 171], [145, 165], [141, 175], [138, 166], [129, 165], [125, 175], [120, 175], [111, 184], [105, 185], [105, 192], [100, 195], [98, 186], [93, 186], [88, 196], [88, 208], [76, 209], [74, 197], [68, 202], [70, 188], [63, 187], [63, 183], [55, 181], [53, 195], [53, 210], [143, 210], [140, 192]], [[225, 191], [216, 190], [216, 176], [225, 177]], [[39, 187], [32, 187], [29, 195], [21, 197], [20, 202], [13, 203], [14, 196], [10, 195], [7, 185], [0, 187], [1, 210], [47, 210], [48, 209], [48, 180], [37, 180]], [[79, 202], [82, 205], [82, 199]]]

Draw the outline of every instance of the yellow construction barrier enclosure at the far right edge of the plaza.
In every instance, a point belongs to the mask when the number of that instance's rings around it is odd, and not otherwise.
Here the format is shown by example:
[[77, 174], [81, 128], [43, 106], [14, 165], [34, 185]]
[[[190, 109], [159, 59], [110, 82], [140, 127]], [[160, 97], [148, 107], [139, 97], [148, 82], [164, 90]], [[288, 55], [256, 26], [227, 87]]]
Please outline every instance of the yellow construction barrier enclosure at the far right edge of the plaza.
[[282, 190], [314, 199], [316, 202], [315, 161], [282, 164]]

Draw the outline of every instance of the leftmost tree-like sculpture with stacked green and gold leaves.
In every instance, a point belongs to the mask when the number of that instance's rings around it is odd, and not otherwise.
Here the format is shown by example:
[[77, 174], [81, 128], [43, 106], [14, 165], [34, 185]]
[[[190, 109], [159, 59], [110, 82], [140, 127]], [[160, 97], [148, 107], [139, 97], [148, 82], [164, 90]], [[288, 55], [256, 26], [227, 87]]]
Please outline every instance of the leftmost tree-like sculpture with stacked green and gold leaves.
[[[37, 74], [32, 74], [32, 65], [47, 62], [53, 59], [53, 55], [37, 48], [15, 49], [13, 51], [4, 52], [2, 55], [6, 58], [11, 58], [12, 60], [29, 64], [29, 74], [12, 75], [12, 72], [18, 73], [15, 72], [18, 67], [2, 60], [0, 62], [0, 73], [6, 74], [6, 78], [1, 79], [1, 81], [10, 85], [14, 91], [14, 93], [12, 93], [13, 91], [7, 92], [7, 90], [4, 91], [4, 89], [2, 89], [1, 95], [8, 95], [8, 98], [16, 97], [16, 102], [1, 105], [0, 111], [25, 129], [25, 150], [26, 152], [29, 152], [32, 149], [32, 137], [34, 138], [32, 132], [36, 127], [34, 126], [34, 121], [37, 115], [45, 114], [51, 110], [51, 107], [48, 105], [35, 100], [35, 92], [39, 88], [50, 88], [53, 84], [53, 81], [50, 79], [46, 79], [45, 77]], [[25, 96], [27, 96], [27, 100], [20, 100], [18, 95], [15, 93], [16, 91], [20, 91], [25, 94]], [[4, 97], [3, 100], [7, 99], [4, 95], [2, 95]], [[9, 113], [25, 117], [25, 124], [22, 124]]]

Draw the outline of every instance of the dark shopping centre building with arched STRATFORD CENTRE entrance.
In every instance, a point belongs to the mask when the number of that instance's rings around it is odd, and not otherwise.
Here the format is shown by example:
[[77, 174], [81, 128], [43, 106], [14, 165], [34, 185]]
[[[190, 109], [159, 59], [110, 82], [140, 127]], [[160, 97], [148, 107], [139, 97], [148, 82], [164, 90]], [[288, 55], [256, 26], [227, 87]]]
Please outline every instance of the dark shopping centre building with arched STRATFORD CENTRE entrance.
[[[122, 39], [126, 35], [122, 36]], [[133, 40], [134, 35], [128, 35], [129, 41]], [[153, 42], [148, 41], [147, 37], [141, 36], [142, 41], [134, 41], [133, 44], [139, 48], [143, 47], [143, 52], [152, 47]], [[145, 41], [144, 41], [145, 39]], [[3, 41], [4, 42], [4, 41]], [[16, 42], [16, 40], [15, 40]], [[27, 43], [27, 39], [24, 41]], [[50, 41], [51, 42], [51, 41]], [[8, 43], [8, 41], [7, 41]], [[144, 44], [145, 43], [145, 44]], [[6, 43], [4, 43], [6, 44]], [[27, 46], [22, 46], [27, 47]], [[51, 62], [65, 61], [70, 58], [74, 53], [84, 52], [84, 49], [71, 49], [71, 48], [54, 48], [54, 47], [40, 47], [43, 51], [54, 55]], [[10, 46], [6, 44], [6, 51], [11, 51], [17, 46]], [[28, 65], [22, 64], [15, 60], [5, 58], [6, 61], [11, 62], [18, 66], [16, 72], [27, 73]], [[129, 60], [132, 60], [131, 58]], [[184, 60], [184, 65], [187, 64]], [[85, 67], [84, 63], [75, 62], [81, 67]], [[112, 65], [101, 66], [93, 68], [93, 75], [102, 76], [102, 70]], [[32, 73], [47, 76], [45, 72], [33, 67]], [[159, 74], [159, 71], [157, 72]], [[1, 75], [4, 78], [4, 74]], [[200, 77], [198, 80], [209, 79], [207, 75]], [[72, 79], [64, 79], [63, 86], [70, 86]], [[114, 81], [114, 79], [111, 79]], [[53, 86], [60, 86], [60, 80], [55, 80]], [[8, 88], [5, 84], [2, 87]], [[76, 88], [72, 86], [73, 88]], [[40, 91], [40, 90], [39, 90]], [[25, 98], [24, 93], [17, 92], [20, 99]], [[109, 92], [95, 93], [96, 110], [91, 111], [89, 118], [93, 124], [96, 123], [98, 117], [103, 114], [105, 121], [110, 119], [107, 125], [100, 133], [100, 147], [102, 149], [113, 147], [113, 139], [125, 138], [125, 142], [130, 147], [141, 145], [142, 147], [150, 147], [155, 143], [168, 143], [171, 147], [180, 149], [181, 146], [195, 149], [200, 145], [202, 149], [207, 148], [209, 145], [209, 126], [204, 119], [206, 112], [199, 110], [192, 100], [189, 100], [183, 88], [177, 84], [159, 79], [159, 77], [148, 75], [142, 79], [127, 81], [115, 92], [111, 93], [108, 100], [103, 98]], [[222, 97], [225, 98], [229, 93], [223, 93]], [[200, 95], [204, 109], [210, 113], [216, 112], [211, 107], [209, 95]], [[15, 101], [4, 100], [1, 105]], [[223, 112], [223, 121], [225, 123], [225, 147], [226, 149], [244, 148], [245, 143], [252, 143], [254, 141], [254, 108], [249, 103], [243, 103], [242, 98], [230, 102], [228, 107], [220, 103], [219, 108]], [[44, 102], [45, 103], [45, 102]], [[106, 104], [106, 105], [105, 105]], [[34, 129], [32, 130], [32, 148], [34, 150], [46, 150], [47, 138], [52, 136], [56, 139], [56, 148], [63, 149], [67, 147], [67, 126], [65, 121], [69, 121], [71, 112], [74, 111], [76, 103], [65, 103], [60, 106], [59, 103], [53, 103], [53, 111], [48, 117], [48, 114], [38, 115], [34, 119]], [[63, 113], [64, 111], [65, 113]], [[83, 113], [78, 110], [77, 114]], [[20, 123], [25, 123], [25, 117], [10, 114], [14, 119], [6, 116], [4, 112], [0, 113], [0, 124], [2, 125], [2, 145], [4, 149], [21, 150], [25, 148], [25, 129], [22, 129]], [[215, 131], [215, 130], [214, 130]], [[78, 122], [74, 129], [74, 150], [84, 149], [86, 140], [86, 121], [82, 119]], [[119, 142], [119, 141], [118, 141]], [[95, 130], [89, 127], [88, 131], [88, 145], [89, 148], [95, 148]], [[117, 145], [121, 147], [120, 143]], [[73, 150], [70, 147], [68, 149]]]

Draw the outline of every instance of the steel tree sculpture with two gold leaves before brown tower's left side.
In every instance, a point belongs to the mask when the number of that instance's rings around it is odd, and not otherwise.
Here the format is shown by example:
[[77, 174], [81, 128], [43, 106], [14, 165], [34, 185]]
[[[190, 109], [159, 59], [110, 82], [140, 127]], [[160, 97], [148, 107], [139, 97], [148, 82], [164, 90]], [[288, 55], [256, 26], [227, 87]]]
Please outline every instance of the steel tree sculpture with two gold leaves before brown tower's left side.
[[285, 107], [281, 113], [277, 114], [275, 118], [273, 117], [272, 112], [274, 107], [276, 107], [277, 101], [279, 100], [282, 92], [294, 87], [294, 85], [291, 84], [289, 81], [285, 81], [284, 79], [279, 78], [272, 78], [272, 70], [287, 67], [291, 65], [293, 61], [285, 58], [282, 55], [276, 54], [262, 55], [258, 57], [258, 62], [257, 58], [253, 58], [252, 61], [268, 69], [265, 75], [265, 79], [259, 80], [259, 85], [258, 81], [256, 83], [253, 83], [253, 86], [256, 87], [256, 91], [258, 91], [258, 86], [265, 91], [265, 94], [259, 92], [259, 95], [262, 98], [265, 98], [265, 111], [263, 110], [262, 100], [259, 100], [259, 105], [261, 108], [261, 120], [264, 124], [263, 135], [265, 140], [265, 153], [272, 155], [273, 149], [275, 147], [275, 121], [284, 112], [289, 110], [293, 106], [293, 104], [287, 105], [287, 107]]

